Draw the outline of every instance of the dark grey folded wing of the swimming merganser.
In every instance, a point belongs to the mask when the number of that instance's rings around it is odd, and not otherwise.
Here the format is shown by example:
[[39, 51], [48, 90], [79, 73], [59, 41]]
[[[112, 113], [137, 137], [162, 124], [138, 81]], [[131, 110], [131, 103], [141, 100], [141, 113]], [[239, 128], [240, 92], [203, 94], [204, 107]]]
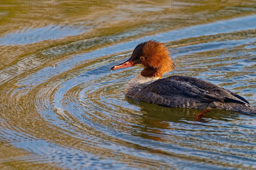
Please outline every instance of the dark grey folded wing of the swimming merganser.
[[143, 95], [138, 95], [136, 98], [167, 107], [204, 109], [213, 101], [223, 104], [225, 102], [244, 104], [239, 98], [236, 100], [233, 95], [221, 87], [207, 81], [183, 76], [171, 76], [155, 81], [142, 89], [141, 93]]

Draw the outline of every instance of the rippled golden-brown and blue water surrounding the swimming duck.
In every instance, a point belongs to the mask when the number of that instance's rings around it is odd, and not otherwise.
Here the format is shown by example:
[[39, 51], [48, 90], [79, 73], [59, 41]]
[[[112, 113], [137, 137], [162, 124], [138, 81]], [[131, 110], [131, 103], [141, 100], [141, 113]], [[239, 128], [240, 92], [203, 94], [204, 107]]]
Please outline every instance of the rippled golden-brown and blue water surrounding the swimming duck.
[[110, 72], [154, 39], [177, 66], [164, 77], [201, 78], [256, 106], [255, 1], [15, 2], [1, 2], [1, 169], [256, 168], [255, 117], [195, 120], [201, 110], [125, 97], [141, 68]]

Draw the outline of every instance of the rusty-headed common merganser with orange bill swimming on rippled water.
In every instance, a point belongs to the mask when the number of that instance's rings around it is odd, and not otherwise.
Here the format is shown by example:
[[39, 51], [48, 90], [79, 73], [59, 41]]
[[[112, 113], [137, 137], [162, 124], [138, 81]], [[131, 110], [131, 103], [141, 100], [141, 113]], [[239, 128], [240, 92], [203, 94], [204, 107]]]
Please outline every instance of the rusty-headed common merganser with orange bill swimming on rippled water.
[[125, 88], [125, 95], [164, 107], [189, 109], [219, 109], [256, 115], [255, 107], [243, 97], [198, 78], [170, 76], [163, 73], [175, 69], [175, 64], [163, 43], [149, 40], [134, 49], [131, 58], [113, 66], [112, 70], [130, 66], [144, 69]]

